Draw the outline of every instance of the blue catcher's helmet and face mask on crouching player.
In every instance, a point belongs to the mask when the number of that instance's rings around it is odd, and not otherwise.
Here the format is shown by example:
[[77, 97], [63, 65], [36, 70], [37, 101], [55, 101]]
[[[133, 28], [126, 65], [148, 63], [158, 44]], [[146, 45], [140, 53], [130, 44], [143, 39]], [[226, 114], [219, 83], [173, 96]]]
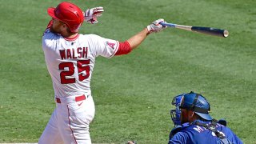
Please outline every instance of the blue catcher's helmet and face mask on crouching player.
[[171, 119], [174, 126], [181, 125], [181, 109], [192, 110], [195, 114], [206, 121], [213, 118], [210, 117], [210, 103], [207, 102], [201, 94], [196, 94], [191, 91], [188, 94], [180, 94], [174, 97], [172, 105], [176, 106], [175, 110], [170, 110]]

